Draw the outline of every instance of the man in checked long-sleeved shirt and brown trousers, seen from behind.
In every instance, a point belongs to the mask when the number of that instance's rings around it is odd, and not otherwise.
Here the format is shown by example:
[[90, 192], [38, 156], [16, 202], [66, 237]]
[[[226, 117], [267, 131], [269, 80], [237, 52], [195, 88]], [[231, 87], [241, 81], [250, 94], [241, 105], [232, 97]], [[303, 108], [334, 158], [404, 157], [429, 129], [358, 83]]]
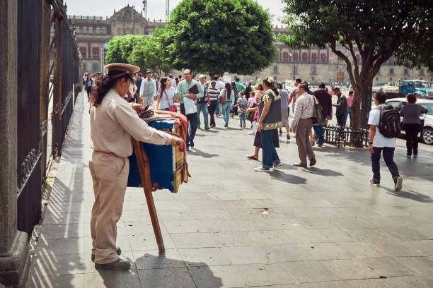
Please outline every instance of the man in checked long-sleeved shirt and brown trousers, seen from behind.
[[298, 85], [297, 95], [300, 95], [294, 107], [293, 119], [291, 119], [290, 131], [296, 126], [296, 145], [300, 163], [293, 164], [297, 167], [306, 167], [306, 157], [310, 160], [310, 166], [316, 164], [316, 156], [309, 140], [311, 128], [313, 128], [314, 96], [308, 94], [308, 83]]

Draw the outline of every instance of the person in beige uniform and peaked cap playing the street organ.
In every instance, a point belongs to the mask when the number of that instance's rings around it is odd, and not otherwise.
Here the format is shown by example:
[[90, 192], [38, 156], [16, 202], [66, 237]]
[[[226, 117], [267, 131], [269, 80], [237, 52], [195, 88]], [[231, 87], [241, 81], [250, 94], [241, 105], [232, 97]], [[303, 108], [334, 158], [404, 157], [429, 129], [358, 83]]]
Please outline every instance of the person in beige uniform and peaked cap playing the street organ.
[[109, 64], [104, 70], [114, 85], [110, 88], [109, 83], [105, 84], [106, 90], [110, 89], [102, 100], [93, 99], [90, 110], [93, 153], [88, 167], [95, 193], [91, 214], [92, 254], [94, 251], [96, 268], [126, 270], [130, 263], [117, 255], [120, 252], [116, 248], [116, 223], [122, 215], [127, 188], [131, 136], [156, 145], [183, 145], [183, 139], [149, 127], [137, 115], [143, 111], [142, 105], [123, 99], [139, 67]]

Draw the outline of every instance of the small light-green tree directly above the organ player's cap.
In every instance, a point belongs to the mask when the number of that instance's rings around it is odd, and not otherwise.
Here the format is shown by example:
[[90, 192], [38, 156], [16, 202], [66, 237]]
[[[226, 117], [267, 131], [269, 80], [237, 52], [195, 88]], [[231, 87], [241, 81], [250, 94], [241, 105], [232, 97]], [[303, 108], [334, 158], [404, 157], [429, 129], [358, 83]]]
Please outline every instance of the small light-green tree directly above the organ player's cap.
[[128, 58], [132, 49], [139, 42], [144, 41], [146, 35], [124, 35], [116, 36], [108, 41], [108, 52], [105, 56], [105, 63], [129, 63]]

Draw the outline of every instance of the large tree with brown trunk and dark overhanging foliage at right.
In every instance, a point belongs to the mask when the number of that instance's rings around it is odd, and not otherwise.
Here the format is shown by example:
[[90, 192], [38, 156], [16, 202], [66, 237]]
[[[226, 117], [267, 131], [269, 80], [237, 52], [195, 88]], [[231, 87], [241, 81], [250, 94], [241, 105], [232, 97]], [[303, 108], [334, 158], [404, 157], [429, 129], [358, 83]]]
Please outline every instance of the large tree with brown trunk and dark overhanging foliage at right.
[[[284, 0], [283, 21], [292, 35], [280, 39], [294, 49], [330, 47], [347, 65], [355, 91], [352, 129], [366, 124], [371, 88], [391, 56], [432, 68], [432, 3], [428, 0]], [[422, 55], [418, 54], [424, 52]], [[356, 54], [362, 59], [357, 61]], [[430, 61], [427, 61], [430, 59]], [[362, 111], [359, 109], [362, 102]], [[362, 122], [362, 123], [361, 123]]]

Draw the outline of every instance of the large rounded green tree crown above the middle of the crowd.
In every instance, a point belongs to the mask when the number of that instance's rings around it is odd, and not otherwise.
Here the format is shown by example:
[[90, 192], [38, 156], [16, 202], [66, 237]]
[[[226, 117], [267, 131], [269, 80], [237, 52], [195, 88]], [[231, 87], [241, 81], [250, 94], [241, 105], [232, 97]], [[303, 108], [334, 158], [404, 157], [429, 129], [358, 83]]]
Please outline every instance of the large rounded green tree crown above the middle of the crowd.
[[269, 13], [253, 0], [183, 0], [165, 30], [163, 50], [179, 70], [249, 75], [277, 55]]

